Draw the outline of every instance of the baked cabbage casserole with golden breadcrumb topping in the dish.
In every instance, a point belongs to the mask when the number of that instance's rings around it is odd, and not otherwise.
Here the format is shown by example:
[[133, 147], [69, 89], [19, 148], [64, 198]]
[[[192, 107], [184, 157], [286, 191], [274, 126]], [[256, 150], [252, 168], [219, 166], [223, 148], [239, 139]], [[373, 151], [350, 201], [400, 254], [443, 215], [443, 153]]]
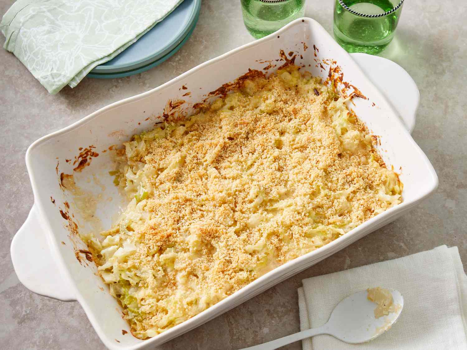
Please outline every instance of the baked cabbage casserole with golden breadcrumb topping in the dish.
[[99, 273], [135, 336], [155, 336], [400, 203], [347, 101], [289, 65], [117, 151], [131, 202]]

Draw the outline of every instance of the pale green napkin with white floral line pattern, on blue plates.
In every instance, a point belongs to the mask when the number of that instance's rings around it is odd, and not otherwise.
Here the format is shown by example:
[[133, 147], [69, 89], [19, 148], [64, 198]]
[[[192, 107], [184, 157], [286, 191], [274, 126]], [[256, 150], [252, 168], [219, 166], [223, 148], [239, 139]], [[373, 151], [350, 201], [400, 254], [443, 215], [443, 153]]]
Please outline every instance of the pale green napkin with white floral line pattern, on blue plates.
[[17, 0], [3, 46], [52, 94], [75, 87], [162, 21], [183, 0]]

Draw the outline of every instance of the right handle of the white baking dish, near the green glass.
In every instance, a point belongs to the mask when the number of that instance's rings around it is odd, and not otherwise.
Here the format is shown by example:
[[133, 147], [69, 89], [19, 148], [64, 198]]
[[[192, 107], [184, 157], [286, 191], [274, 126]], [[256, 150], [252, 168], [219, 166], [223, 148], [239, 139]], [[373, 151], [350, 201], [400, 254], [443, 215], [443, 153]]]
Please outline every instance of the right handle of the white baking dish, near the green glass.
[[388, 99], [411, 133], [415, 127], [420, 93], [409, 73], [387, 58], [363, 53], [352, 53], [350, 56]]

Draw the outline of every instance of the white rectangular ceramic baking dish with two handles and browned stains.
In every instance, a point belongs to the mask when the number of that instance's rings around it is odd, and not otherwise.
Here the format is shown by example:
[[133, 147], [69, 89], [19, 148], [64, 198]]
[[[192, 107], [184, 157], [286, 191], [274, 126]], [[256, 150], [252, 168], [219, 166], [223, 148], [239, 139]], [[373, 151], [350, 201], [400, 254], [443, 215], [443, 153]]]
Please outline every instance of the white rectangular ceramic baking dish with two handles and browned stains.
[[[308, 49], [304, 49], [304, 44]], [[207, 92], [241, 76], [249, 68], [261, 70], [267, 64], [263, 63], [264, 60], [280, 58], [280, 49], [286, 53], [296, 51], [296, 64], [305, 65], [313, 75], [323, 78], [327, 77], [328, 72], [320, 69], [318, 61], [335, 60], [344, 73], [344, 80], [357, 86], [368, 97], [368, 100], [354, 98], [355, 105], [352, 108], [369, 130], [379, 136], [379, 147], [386, 164], [392, 165], [396, 171], [402, 169], [400, 178], [404, 184], [403, 203], [361, 224], [332, 243], [276, 268], [199, 315], [154, 338], [142, 341], [129, 333], [122, 335], [122, 329], [129, 330], [129, 327], [121, 318], [117, 301], [108, 293], [102, 280], [94, 274], [96, 268], [93, 263], [78, 262], [75, 251], [85, 249], [85, 245], [67, 230], [67, 221], [59, 212], [59, 209], [66, 210], [63, 204], [65, 201], [72, 202], [72, 198], [62, 191], [58, 181], [60, 173], [73, 173], [72, 161], [66, 162], [66, 159], [73, 160], [79, 153], [79, 147], [96, 147], [93, 150], [99, 156], [92, 158], [90, 165], [82, 172], [74, 174], [78, 185], [94, 194], [101, 193], [101, 188], [92, 180], [93, 174], [105, 186], [96, 216], [104, 227], [110, 227], [121, 201], [111, 176], [107, 174], [108, 170], [113, 169], [110, 152], [102, 151], [111, 145], [120, 144], [134, 133], [151, 128], [169, 99], [186, 100], [182, 110], [190, 113], [193, 103], [202, 100]], [[402, 112], [400, 114], [406, 126], [355, 61], [393, 99], [396, 109]], [[278, 63], [278, 66], [282, 64]], [[191, 95], [182, 97], [187, 91]], [[417, 104], [418, 91], [415, 83], [395, 63], [363, 54], [350, 56], [316, 21], [309, 18], [293, 21], [272, 35], [203, 63], [156, 89], [113, 103], [71, 126], [35, 141], [26, 153], [35, 203], [12, 242], [14, 269], [21, 282], [35, 293], [64, 301], [79, 301], [107, 347], [152, 348], [329, 257], [396, 219], [436, 189], [436, 173], [407, 130], [414, 126]], [[52, 198], [55, 203], [52, 203]], [[69, 215], [71, 214], [75, 215], [73, 220], [78, 223], [79, 230], [89, 229], [89, 223], [78, 212], [73, 211], [73, 207], [69, 210]]]

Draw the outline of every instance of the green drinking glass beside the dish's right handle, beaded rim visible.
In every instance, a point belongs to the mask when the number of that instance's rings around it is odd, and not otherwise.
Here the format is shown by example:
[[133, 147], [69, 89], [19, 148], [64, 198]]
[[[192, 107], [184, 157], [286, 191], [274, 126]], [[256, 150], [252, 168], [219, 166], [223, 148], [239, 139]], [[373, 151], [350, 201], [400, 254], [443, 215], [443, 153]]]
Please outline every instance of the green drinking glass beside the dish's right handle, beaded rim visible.
[[389, 45], [404, 0], [336, 0], [334, 38], [347, 52], [375, 55]]

